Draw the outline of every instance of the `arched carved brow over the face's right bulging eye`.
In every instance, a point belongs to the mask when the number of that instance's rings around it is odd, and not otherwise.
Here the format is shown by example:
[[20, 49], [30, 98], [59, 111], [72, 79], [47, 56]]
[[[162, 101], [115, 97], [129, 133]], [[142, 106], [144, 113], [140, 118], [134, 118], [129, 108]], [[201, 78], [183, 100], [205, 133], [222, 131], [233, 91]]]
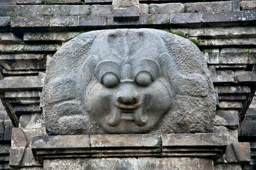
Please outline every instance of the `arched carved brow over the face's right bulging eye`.
[[148, 71], [151, 73], [153, 81], [160, 76], [160, 65], [153, 59], [141, 59], [135, 63], [135, 75], [140, 71]]

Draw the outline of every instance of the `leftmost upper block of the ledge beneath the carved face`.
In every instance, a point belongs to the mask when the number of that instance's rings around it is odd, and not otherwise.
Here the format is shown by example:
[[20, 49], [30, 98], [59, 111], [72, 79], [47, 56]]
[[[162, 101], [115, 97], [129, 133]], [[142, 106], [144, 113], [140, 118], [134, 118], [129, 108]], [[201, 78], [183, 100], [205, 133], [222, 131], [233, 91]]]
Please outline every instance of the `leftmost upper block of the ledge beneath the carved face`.
[[87, 149], [90, 148], [89, 135], [77, 136], [38, 136], [32, 140], [32, 148], [35, 149]]

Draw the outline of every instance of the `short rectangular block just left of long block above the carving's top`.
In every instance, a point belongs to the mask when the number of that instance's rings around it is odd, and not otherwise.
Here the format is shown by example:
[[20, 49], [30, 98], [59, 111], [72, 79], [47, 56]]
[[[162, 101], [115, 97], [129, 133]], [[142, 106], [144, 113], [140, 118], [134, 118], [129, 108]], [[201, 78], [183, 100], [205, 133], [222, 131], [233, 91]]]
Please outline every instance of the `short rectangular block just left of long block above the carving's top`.
[[79, 26], [107, 26], [107, 16], [79, 16]]

